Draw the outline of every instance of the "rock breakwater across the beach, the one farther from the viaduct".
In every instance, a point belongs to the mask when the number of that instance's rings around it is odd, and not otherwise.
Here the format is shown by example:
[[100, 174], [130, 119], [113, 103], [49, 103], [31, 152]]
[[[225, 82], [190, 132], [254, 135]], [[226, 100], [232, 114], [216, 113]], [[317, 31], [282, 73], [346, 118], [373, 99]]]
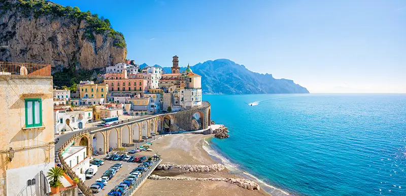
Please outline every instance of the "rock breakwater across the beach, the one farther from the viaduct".
[[171, 177], [150, 175], [148, 179], [152, 180], [194, 180], [194, 181], [224, 181], [230, 184], [235, 184], [248, 190], [260, 190], [257, 183], [242, 178], [192, 178], [192, 177]]

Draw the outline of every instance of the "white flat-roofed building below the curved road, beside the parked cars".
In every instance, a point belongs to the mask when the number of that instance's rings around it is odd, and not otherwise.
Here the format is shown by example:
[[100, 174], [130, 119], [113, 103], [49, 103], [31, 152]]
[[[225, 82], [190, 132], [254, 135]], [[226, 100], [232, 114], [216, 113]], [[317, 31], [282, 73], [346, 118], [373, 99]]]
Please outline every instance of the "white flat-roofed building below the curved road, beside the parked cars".
[[85, 181], [85, 172], [90, 167], [90, 156], [86, 153], [87, 146], [70, 146], [62, 152], [62, 158], [72, 170]]

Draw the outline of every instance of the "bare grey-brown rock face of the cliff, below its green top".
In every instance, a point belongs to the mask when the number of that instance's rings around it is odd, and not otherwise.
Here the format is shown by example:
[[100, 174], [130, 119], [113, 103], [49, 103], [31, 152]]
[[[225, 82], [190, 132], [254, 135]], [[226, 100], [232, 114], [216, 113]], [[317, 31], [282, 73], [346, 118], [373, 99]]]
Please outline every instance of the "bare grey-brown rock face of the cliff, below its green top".
[[[5, 1], [0, 1], [0, 6]], [[115, 46], [118, 35], [89, 32], [88, 22], [78, 18], [0, 10], [0, 61], [46, 63], [52, 71], [63, 67], [94, 69], [124, 62], [126, 47]], [[89, 40], [87, 34], [94, 40]]]

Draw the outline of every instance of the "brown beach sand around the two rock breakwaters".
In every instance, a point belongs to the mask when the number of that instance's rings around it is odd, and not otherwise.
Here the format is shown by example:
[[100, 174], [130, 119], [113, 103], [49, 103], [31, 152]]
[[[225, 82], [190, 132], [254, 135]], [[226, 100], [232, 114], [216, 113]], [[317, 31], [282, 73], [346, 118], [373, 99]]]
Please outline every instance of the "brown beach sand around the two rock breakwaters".
[[[166, 135], [153, 142], [151, 149], [158, 150], [162, 163], [209, 165], [216, 162], [202, 148], [204, 138], [211, 137], [200, 134]], [[154, 152], [143, 152], [152, 155]], [[232, 177], [227, 169], [221, 172], [179, 173], [175, 169], [168, 171], [154, 171], [160, 176], [189, 176], [199, 178]], [[137, 195], [269, 195], [263, 190], [248, 190], [227, 182], [212, 181], [178, 181], [178, 180], [150, 180], [137, 190]]]

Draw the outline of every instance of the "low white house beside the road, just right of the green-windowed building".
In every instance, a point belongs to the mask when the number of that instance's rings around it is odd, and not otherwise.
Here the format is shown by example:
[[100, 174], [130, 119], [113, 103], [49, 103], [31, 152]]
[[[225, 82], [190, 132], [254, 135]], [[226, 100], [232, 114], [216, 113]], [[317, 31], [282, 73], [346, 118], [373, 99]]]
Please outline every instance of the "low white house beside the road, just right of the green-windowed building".
[[74, 131], [85, 128], [85, 125], [93, 119], [93, 111], [71, 109], [54, 109], [54, 133], [62, 131]]

